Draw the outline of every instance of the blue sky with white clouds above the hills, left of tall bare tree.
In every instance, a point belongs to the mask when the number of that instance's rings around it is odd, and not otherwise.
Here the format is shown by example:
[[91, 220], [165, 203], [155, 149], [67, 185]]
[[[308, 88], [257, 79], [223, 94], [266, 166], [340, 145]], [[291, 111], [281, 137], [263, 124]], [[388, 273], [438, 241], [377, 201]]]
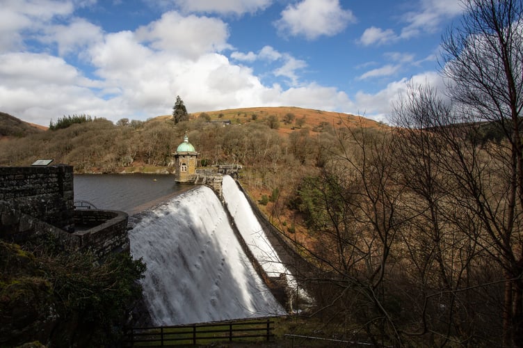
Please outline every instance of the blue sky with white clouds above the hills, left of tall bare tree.
[[0, 0], [0, 111], [146, 120], [300, 106], [387, 121], [457, 0]]

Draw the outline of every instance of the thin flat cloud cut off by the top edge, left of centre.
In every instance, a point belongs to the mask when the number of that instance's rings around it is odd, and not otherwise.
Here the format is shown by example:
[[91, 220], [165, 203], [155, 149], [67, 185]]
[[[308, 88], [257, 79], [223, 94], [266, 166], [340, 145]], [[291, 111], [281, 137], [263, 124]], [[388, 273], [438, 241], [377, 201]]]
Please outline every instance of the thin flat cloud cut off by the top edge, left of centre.
[[264, 10], [273, 2], [272, 0], [174, 0], [183, 12], [203, 13], [233, 13], [243, 15], [244, 13], [255, 13]]

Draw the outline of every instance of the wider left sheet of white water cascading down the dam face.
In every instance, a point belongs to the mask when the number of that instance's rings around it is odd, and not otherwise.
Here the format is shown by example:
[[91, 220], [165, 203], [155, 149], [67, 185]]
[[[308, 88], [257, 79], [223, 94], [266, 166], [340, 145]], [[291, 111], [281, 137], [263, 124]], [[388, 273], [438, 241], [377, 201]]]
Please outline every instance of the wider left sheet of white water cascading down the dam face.
[[147, 264], [142, 285], [156, 325], [284, 313], [244, 255], [223, 205], [208, 187], [144, 213], [129, 239], [133, 257]]

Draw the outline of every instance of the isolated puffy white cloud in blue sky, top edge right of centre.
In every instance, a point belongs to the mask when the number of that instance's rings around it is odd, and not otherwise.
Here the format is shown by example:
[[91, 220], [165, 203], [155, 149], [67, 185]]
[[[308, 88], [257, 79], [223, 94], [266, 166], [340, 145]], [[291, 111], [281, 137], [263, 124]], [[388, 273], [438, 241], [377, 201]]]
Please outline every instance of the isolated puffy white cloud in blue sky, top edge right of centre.
[[332, 36], [343, 31], [348, 23], [355, 22], [350, 10], [344, 10], [339, 0], [303, 0], [290, 4], [275, 22], [284, 35], [303, 35], [314, 40], [321, 35]]

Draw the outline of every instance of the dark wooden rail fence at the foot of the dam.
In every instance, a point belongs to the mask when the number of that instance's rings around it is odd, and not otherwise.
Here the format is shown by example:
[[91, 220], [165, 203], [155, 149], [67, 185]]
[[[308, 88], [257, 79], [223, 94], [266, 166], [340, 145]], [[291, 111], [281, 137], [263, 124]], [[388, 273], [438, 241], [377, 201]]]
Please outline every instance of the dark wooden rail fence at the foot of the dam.
[[271, 319], [128, 329], [124, 347], [209, 345], [218, 340], [259, 342], [274, 338]]

